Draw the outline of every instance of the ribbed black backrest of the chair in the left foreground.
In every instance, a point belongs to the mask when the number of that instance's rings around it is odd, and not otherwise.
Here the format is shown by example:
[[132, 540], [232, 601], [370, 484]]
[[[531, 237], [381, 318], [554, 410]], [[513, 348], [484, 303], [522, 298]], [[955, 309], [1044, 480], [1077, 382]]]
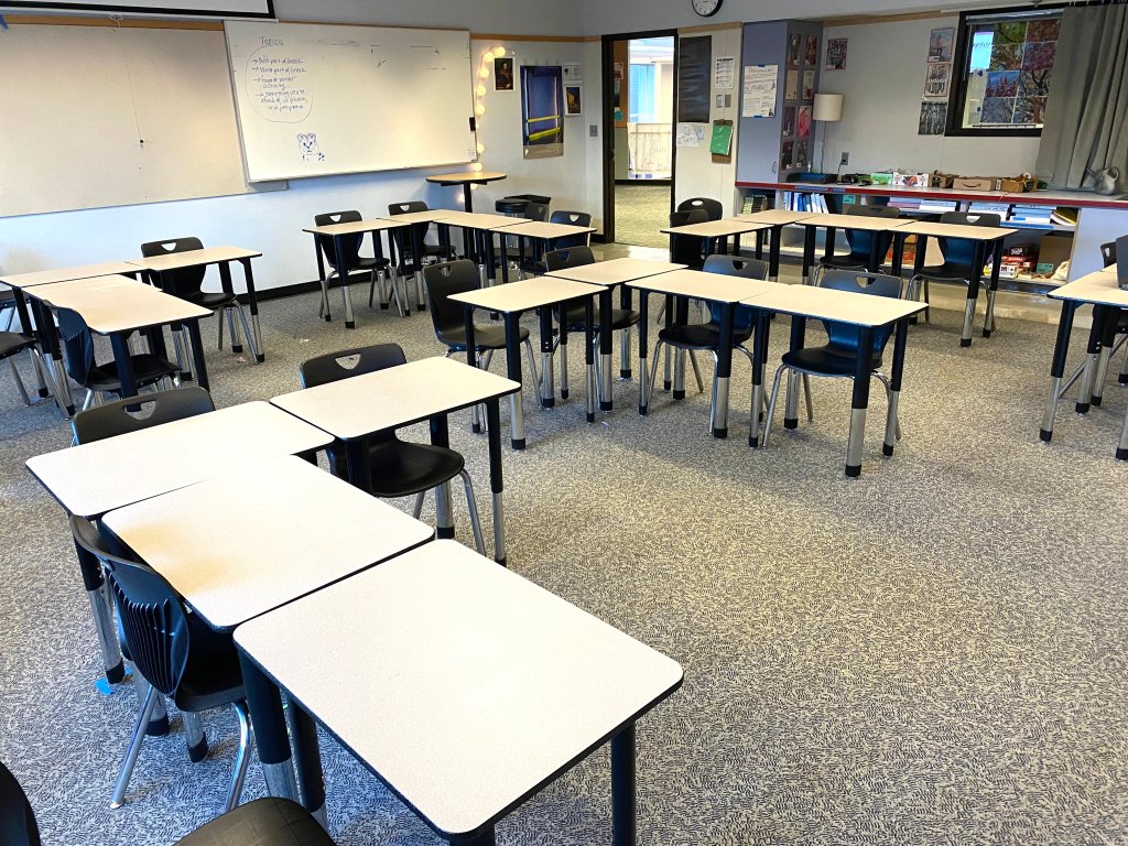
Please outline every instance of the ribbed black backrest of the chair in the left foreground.
[[71, 517], [74, 543], [102, 562], [129, 654], [146, 681], [175, 699], [188, 662], [187, 613], [162, 575], [111, 552], [89, 520]]

